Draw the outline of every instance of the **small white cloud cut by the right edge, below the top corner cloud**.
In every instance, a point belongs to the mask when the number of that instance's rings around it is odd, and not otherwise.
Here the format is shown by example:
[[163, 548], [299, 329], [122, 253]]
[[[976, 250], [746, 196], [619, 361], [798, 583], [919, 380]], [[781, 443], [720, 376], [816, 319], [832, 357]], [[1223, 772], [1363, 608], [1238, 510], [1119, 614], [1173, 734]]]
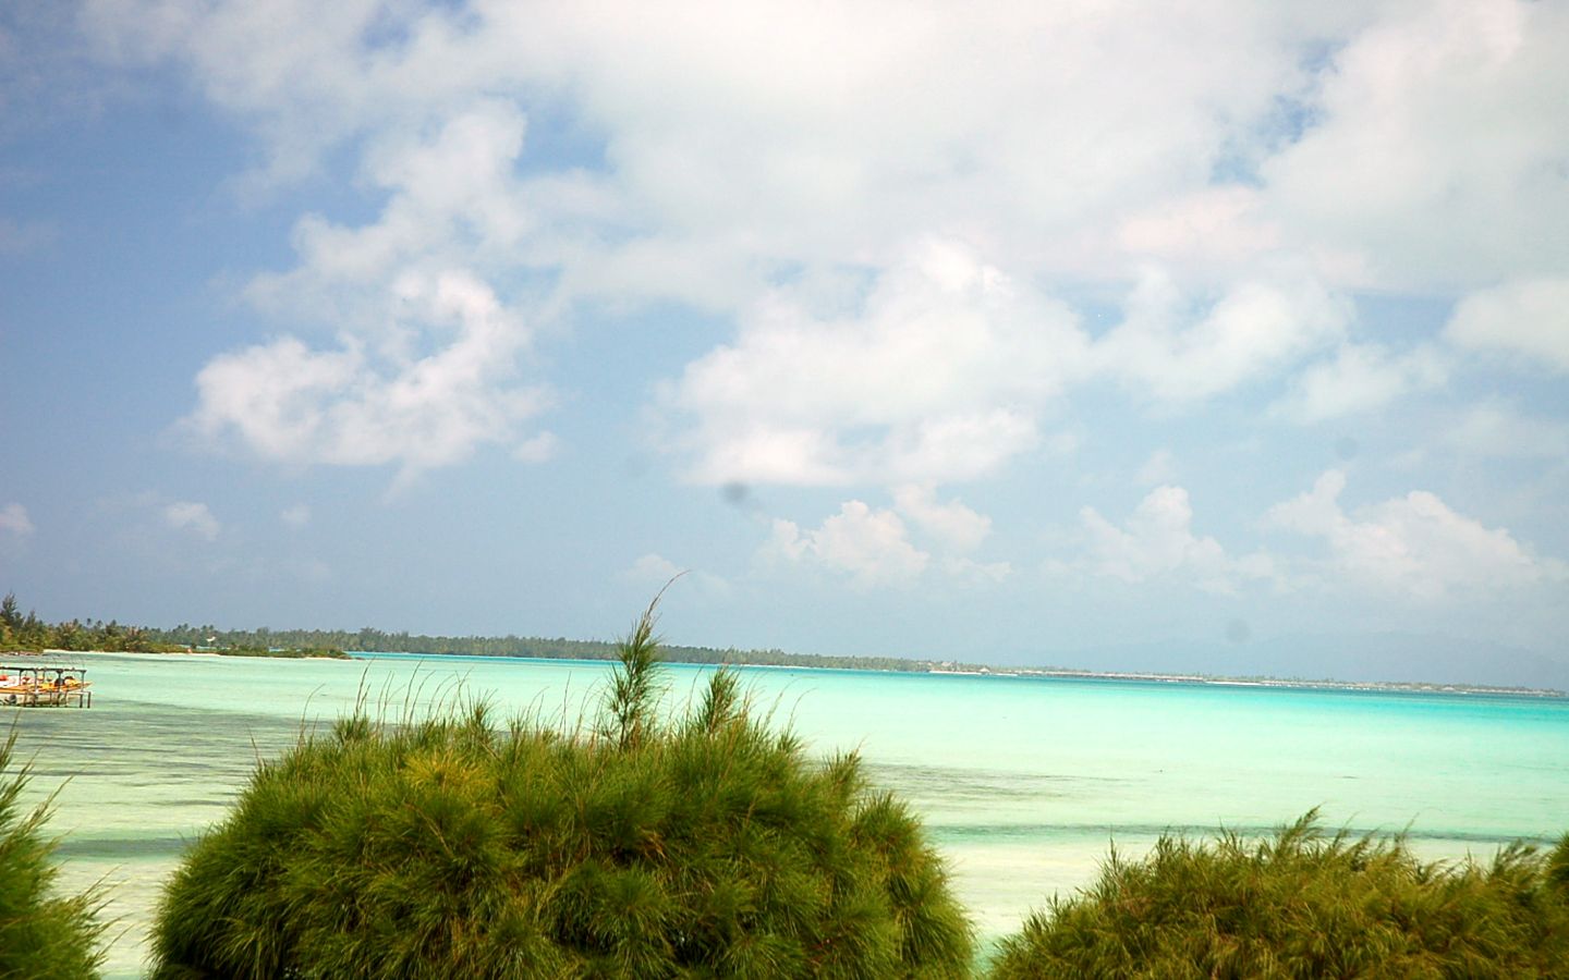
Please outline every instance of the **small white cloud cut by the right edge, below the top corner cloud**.
[[1443, 334], [1464, 348], [1523, 354], [1569, 372], [1569, 279], [1516, 281], [1475, 292], [1454, 307]]

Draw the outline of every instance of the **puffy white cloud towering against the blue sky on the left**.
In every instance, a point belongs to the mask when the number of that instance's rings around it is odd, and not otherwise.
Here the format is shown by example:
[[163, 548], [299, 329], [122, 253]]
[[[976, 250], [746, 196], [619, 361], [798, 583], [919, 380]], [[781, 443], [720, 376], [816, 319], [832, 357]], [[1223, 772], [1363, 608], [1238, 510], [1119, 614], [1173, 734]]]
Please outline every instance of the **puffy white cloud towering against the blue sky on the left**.
[[522, 114], [493, 99], [438, 125], [389, 127], [364, 162], [366, 180], [389, 193], [380, 216], [306, 215], [298, 265], [246, 290], [279, 315], [325, 320], [336, 343], [287, 336], [213, 358], [187, 426], [264, 459], [405, 475], [491, 444], [548, 458], [554, 437], [522, 426], [549, 401], [518, 379], [532, 331], [491, 281], [494, 254], [530, 226], [511, 176], [522, 136]]

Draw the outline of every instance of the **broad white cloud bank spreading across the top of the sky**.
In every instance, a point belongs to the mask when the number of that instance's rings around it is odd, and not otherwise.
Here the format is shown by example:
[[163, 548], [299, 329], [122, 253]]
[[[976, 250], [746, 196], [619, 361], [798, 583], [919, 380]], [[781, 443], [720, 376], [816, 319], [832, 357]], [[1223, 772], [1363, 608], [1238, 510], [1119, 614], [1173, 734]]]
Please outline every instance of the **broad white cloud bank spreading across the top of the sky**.
[[173, 61], [259, 133], [271, 180], [477, 99], [565, 110], [598, 141], [552, 235], [571, 289], [744, 303], [778, 263], [888, 265], [929, 234], [1092, 279], [1569, 257], [1553, 3], [85, 8], [107, 58]]

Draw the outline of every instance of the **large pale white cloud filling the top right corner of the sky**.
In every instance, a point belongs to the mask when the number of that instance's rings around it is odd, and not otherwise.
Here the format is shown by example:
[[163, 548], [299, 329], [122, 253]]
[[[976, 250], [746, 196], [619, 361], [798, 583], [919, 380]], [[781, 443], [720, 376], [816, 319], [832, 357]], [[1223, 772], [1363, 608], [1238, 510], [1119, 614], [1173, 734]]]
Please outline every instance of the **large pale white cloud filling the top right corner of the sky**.
[[[1261, 165], [1263, 213], [1384, 289], [1569, 267], [1569, 9], [1525, 0], [1370, 6], [1305, 132]], [[1326, 267], [1331, 265], [1326, 262]]]

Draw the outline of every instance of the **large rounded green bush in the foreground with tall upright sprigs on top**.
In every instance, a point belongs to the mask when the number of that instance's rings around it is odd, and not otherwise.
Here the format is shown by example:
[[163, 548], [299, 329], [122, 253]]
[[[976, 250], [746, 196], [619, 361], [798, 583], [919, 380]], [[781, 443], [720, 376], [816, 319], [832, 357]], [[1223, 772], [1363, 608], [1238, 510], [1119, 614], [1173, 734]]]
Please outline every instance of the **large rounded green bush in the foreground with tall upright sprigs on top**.
[[857, 759], [806, 759], [715, 673], [656, 717], [653, 607], [599, 718], [359, 713], [262, 764], [169, 883], [173, 978], [957, 977], [967, 919]]

